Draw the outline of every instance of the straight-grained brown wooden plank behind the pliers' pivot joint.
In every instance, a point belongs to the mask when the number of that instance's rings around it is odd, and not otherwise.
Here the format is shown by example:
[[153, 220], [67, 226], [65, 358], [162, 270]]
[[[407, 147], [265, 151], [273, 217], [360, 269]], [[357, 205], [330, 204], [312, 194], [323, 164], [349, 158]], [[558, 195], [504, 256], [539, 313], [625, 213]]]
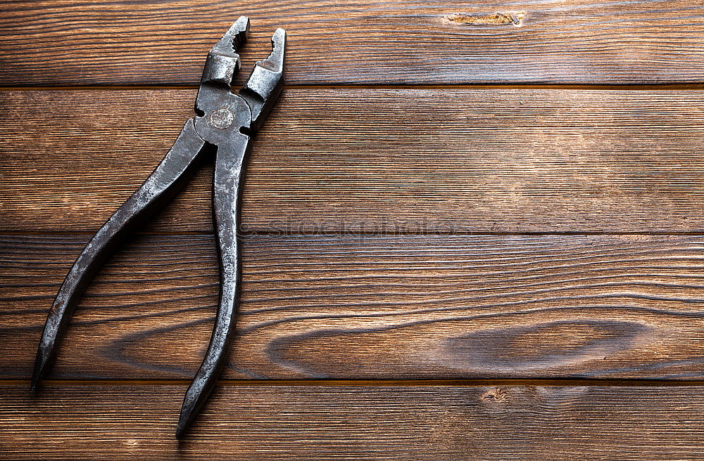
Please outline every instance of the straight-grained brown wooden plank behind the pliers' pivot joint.
[[[193, 98], [0, 93], [0, 228], [96, 231]], [[703, 105], [704, 91], [289, 90], [253, 145], [244, 229], [701, 232]], [[210, 171], [150, 229], [210, 231]]]

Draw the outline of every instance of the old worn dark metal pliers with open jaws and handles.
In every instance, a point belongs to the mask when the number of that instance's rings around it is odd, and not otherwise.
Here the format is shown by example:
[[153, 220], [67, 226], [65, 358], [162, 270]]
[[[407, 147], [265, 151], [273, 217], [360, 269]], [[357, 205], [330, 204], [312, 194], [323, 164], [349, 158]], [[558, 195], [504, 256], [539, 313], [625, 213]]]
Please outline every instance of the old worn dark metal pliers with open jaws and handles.
[[172, 199], [206, 152], [215, 150], [213, 215], [220, 256], [220, 304], [208, 351], [184, 397], [177, 439], [205, 403], [225, 361], [239, 304], [239, 196], [244, 157], [250, 136], [261, 126], [283, 84], [286, 32], [277, 29], [270, 56], [256, 63], [239, 93], [232, 93], [232, 79], [239, 70], [237, 47], [248, 32], [249, 18], [241, 16], [210, 50], [196, 96], [196, 116], [187, 120], [158, 167], [103, 224], [66, 275], [46, 319], [32, 389], [37, 389], [39, 380], [51, 368], [68, 318], [108, 254], [127, 233]]

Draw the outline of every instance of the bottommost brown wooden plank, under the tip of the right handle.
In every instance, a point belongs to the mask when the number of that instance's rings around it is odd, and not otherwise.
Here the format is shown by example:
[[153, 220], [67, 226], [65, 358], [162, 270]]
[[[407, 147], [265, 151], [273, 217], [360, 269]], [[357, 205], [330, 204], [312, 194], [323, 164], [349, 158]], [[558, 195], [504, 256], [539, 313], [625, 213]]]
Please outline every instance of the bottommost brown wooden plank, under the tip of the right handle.
[[228, 387], [182, 443], [184, 386], [0, 389], [13, 460], [698, 460], [704, 387]]

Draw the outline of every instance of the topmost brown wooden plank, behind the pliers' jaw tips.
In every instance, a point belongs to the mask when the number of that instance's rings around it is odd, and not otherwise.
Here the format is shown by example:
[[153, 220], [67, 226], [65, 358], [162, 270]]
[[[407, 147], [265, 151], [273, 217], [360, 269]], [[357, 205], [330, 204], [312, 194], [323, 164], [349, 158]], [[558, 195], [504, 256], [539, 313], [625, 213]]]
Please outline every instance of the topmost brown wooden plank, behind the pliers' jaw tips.
[[245, 70], [289, 32], [291, 84], [697, 82], [701, 5], [686, 0], [6, 1], [3, 84], [197, 84], [241, 14]]

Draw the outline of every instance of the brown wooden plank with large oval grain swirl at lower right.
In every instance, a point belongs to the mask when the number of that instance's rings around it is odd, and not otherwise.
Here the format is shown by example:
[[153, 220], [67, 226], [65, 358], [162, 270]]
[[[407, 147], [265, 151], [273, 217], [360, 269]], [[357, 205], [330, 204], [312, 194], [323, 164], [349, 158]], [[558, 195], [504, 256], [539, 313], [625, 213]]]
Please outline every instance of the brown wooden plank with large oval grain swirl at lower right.
[[[0, 375], [30, 376], [86, 236], [2, 237]], [[701, 379], [701, 236], [258, 236], [226, 378]], [[142, 235], [92, 285], [54, 378], [190, 379], [207, 235]]]

